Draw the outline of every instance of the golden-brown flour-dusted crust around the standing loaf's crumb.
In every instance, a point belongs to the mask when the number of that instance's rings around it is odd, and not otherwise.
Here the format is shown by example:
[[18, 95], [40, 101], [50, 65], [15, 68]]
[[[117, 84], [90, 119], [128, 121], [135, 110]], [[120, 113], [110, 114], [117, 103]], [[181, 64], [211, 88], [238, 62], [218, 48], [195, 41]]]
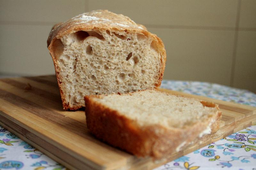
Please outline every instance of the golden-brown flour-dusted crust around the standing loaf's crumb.
[[158, 38], [155, 34], [151, 34], [147, 31], [146, 27], [140, 24], [136, 24], [129, 17], [126, 17], [122, 14], [115, 14], [109, 12], [107, 10], [97, 10], [88, 13], [84, 13], [78, 15], [64, 23], [56, 24], [48, 37], [47, 47], [52, 56], [52, 60], [55, 67], [55, 72], [60, 88], [61, 99], [63, 103], [63, 107], [65, 110], [77, 110], [83, 106], [75, 106], [70, 107], [68, 102], [65, 100], [65, 95], [63, 93], [63, 88], [61, 86], [61, 76], [59, 74], [59, 69], [56, 64], [56, 56], [54, 55], [54, 47], [53, 44], [57, 39], [60, 39], [63, 35], [71, 34], [76, 31], [90, 31], [90, 30], [112, 30], [112, 31], [121, 31], [126, 30], [129, 32], [142, 33], [147, 37], [152, 38], [152, 40], [156, 41], [156, 45], [161, 54], [161, 62], [162, 67], [159, 69], [159, 79], [155, 83], [155, 88], [157, 89], [161, 85], [161, 81], [164, 75], [164, 68], [166, 62], [166, 52], [164, 49], [164, 43], [160, 38]]

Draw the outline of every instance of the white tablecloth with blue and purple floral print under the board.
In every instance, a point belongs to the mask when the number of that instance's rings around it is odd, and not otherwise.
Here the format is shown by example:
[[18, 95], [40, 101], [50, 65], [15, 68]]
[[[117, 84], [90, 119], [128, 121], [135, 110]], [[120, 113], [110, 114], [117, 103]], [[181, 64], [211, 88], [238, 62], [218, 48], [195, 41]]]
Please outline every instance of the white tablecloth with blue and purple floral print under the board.
[[[248, 90], [196, 81], [164, 80], [161, 87], [256, 107], [256, 94]], [[0, 127], [1, 169], [61, 170], [65, 167]], [[164, 169], [256, 170], [256, 126], [243, 129], [156, 168], [156, 170]]]

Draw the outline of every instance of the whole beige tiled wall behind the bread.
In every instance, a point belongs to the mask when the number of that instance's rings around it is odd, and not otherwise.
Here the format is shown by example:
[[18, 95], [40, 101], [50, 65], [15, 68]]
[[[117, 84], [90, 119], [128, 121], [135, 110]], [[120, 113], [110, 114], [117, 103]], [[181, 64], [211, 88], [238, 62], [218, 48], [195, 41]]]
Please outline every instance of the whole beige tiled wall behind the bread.
[[53, 74], [51, 27], [96, 9], [127, 15], [164, 41], [164, 79], [256, 92], [255, 0], [2, 0], [0, 75]]

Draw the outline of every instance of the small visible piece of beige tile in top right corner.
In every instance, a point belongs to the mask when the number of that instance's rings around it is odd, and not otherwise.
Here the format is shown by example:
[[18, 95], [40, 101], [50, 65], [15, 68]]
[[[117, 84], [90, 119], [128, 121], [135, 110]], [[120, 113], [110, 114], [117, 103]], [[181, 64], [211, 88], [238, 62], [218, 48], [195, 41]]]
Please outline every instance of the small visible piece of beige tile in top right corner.
[[256, 28], [256, 1], [242, 0], [239, 27]]

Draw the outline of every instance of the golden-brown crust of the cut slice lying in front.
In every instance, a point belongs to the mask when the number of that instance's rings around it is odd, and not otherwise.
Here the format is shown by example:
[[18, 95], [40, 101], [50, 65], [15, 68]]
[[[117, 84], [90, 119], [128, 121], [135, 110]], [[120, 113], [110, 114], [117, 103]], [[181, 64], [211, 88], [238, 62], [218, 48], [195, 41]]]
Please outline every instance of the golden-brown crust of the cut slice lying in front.
[[101, 96], [84, 97], [89, 130], [97, 138], [138, 157], [163, 158], [197, 140], [202, 130], [208, 126], [211, 127], [212, 133], [219, 129], [220, 111], [213, 117], [183, 128], [167, 129], [160, 125], [141, 127], [136, 121], [93, 100], [95, 97]]

